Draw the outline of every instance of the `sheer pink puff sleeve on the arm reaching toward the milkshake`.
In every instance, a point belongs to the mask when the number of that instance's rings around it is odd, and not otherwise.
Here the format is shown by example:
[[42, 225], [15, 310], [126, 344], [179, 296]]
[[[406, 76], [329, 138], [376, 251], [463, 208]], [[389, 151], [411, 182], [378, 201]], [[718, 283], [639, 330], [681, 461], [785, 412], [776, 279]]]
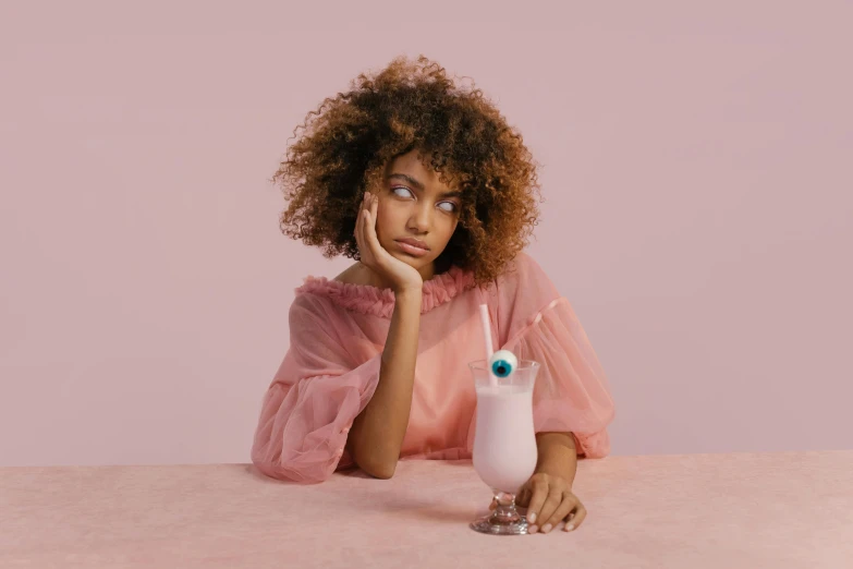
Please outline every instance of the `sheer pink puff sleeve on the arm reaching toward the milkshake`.
[[533, 396], [535, 429], [571, 432], [578, 456], [605, 457], [607, 426], [616, 415], [605, 371], [570, 302], [532, 258], [522, 255], [516, 265], [502, 288], [499, 281], [498, 318], [502, 348], [541, 365]]

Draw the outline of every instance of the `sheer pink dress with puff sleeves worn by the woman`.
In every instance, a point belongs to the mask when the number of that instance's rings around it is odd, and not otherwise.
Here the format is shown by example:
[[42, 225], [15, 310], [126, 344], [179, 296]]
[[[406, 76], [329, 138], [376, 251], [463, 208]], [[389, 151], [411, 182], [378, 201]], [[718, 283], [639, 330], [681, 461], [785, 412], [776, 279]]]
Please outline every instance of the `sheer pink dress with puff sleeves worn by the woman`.
[[[578, 457], [606, 456], [614, 409], [605, 372], [569, 301], [520, 253], [486, 289], [459, 267], [424, 283], [400, 459], [471, 458], [476, 395], [467, 363], [485, 358], [483, 303], [495, 349], [541, 364], [533, 396], [536, 432], [571, 432]], [[346, 434], [379, 380], [393, 308], [390, 289], [321, 277], [296, 289], [291, 346], [264, 397], [252, 447], [261, 472], [316, 483], [354, 465]]]

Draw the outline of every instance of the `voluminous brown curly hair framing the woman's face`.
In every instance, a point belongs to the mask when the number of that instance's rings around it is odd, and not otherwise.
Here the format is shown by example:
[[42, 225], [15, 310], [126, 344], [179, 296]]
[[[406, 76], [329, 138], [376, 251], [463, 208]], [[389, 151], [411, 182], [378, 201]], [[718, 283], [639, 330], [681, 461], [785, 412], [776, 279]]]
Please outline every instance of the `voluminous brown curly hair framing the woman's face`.
[[282, 183], [289, 201], [282, 232], [322, 247], [326, 257], [357, 259], [353, 231], [364, 192], [378, 187], [388, 160], [417, 149], [442, 182], [462, 191], [459, 226], [437, 273], [454, 264], [480, 284], [497, 277], [527, 244], [539, 215], [538, 165], [521, 134], [480, 89], [456, 87], [424, 56], [397, 57], [350, 87], [294, 129], [303, 136], [270, 180]]

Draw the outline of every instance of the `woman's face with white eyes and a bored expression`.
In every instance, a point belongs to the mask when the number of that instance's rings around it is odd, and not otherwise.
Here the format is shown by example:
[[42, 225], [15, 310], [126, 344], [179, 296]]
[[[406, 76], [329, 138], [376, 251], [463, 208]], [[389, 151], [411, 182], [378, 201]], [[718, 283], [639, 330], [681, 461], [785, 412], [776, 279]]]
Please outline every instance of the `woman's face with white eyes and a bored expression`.
[[461, 193], [438, 180], [417, 150], [397, 157], [379, 190], [376, 234], [392, 256], [416, 268], [425, 280], [459, 223]]

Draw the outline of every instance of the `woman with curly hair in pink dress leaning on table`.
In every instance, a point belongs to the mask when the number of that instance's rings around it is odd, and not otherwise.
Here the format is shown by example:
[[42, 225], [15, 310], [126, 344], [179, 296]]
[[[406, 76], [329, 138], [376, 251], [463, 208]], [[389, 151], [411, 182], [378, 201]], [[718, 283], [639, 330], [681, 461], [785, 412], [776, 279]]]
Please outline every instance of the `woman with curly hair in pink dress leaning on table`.
[[541, 364], [538, 463], [517, 503], [533, 533], [576, 528], [576, 458], [609, 452], [613, 402], [571, 304], [522, 252], [538, 184], [521, 135], [423, 56], [361, 74], [313, 114], [273, 177], [290, 202], [282, 230], [356, 263], [296, 289], [252, 460], [321, 482], [349, 467], [388, 479], [399, 459], [471, 458], [466, 364], [484, 358], [487, 304], [496, 349]]

